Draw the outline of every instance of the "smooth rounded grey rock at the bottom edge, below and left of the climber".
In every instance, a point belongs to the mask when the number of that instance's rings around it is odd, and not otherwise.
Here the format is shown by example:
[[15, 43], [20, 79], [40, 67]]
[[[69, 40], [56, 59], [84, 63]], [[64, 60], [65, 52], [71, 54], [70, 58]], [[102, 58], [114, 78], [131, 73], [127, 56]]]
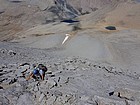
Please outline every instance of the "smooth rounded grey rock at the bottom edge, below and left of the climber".
[[29, 93], [20, 95], [17, 100], [17, 105], [34, 105], [32, 95]]

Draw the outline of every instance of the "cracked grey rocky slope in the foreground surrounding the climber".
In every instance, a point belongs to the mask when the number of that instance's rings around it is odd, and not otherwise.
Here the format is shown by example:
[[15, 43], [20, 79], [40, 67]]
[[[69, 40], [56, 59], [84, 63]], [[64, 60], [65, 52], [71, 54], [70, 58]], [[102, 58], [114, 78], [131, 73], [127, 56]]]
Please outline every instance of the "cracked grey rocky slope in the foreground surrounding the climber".
[[[41, 49], [23, 50], [19, 45], [18, 49], [17, 45], [1, 45], [4, 47], [0, 53], [1, 105], [140, 104], [140, 75], [137, 73], [106, 62], [60, 57]], [[20, 66], [22, 63], [27, 65]], [[35, 63], [48, 67], [44, 81], [26, 81]], [[23, 74], [25, 69], [28, 71]]]

